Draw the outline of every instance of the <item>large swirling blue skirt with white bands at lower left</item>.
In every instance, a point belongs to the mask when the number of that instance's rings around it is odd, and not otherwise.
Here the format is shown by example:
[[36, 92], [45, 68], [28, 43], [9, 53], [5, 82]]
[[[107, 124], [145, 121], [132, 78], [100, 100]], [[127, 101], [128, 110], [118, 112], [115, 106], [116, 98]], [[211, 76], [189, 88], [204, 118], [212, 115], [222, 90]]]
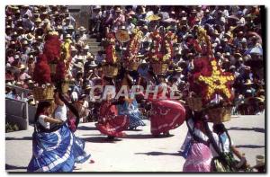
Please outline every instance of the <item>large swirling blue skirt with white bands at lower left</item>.
[[72, 172], [74, 164], [90, 158], [84, 151], [85, 142], [65, 124], [51, 133], [34, 132], [31, 162], [27, 172]]

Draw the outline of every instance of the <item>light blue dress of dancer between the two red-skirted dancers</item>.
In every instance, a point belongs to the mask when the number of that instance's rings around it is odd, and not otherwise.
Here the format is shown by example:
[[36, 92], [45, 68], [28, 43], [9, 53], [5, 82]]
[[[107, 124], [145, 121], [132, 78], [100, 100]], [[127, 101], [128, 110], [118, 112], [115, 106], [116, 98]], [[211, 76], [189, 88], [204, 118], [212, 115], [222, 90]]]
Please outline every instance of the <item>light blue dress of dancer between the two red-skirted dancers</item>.
[[130, 129], [136, 129], [139, 126], [145, 126], [142, 114], [138, 109], [138, 103], [135, 99], [120, 98], [120, 104], [117, 105], [119, 115], [127, 115], [130, 119]]

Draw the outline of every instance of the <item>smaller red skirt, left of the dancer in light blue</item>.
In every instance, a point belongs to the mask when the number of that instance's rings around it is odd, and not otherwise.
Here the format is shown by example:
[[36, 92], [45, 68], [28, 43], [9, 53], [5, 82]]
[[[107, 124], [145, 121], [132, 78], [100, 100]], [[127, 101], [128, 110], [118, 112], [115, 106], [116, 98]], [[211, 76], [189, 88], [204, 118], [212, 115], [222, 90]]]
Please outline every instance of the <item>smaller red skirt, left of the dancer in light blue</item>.
[[111, 137], [123, 137], [122, 131], [130, 125], [129, 119], [125, 115], [115, 116], [112, 119], [106, 119], [104, 122], [98, 122], [95, 127], [104, 135]]

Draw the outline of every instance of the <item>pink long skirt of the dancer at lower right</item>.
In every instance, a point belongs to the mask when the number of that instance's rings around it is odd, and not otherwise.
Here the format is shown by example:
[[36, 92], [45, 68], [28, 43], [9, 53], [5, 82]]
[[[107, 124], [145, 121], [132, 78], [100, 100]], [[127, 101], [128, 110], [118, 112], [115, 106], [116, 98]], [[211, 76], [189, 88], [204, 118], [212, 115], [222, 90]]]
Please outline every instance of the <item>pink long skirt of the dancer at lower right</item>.
[[183, 172], [211, 172], [211, 149], [193, 142], [183, 167]]

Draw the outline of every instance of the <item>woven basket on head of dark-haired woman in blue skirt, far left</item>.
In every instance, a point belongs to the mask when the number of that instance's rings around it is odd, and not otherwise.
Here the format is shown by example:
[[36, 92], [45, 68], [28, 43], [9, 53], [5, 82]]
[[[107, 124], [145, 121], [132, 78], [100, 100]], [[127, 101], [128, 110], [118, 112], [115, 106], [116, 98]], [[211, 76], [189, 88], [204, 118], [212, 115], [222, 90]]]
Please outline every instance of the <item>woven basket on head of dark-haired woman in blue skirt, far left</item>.
[[32, 89], [32, 94], [36, 101], [48, 101], [53, 100], [54, 88], [53, 86], [35, 87]]

